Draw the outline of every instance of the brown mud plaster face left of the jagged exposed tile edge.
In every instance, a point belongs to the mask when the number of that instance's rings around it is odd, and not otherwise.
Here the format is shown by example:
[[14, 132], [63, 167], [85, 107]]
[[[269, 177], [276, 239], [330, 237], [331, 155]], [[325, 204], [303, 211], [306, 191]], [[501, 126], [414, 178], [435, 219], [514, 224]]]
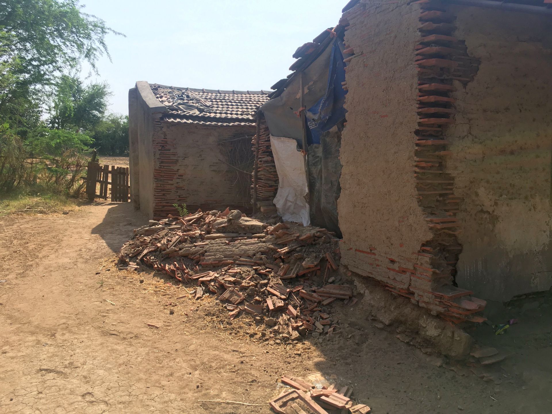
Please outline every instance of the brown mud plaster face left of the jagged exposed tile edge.
[[432, 237], [416, 200], [412, 171], [419, 14], [406, 1], [361, 2], [344, 14], [351, 24], [345, 43], [364, 55], [351, 61], [346, 75], [349, 112], [338, 200], [342, 263], [405, 288], [410, 276], [388, 268], [411, 268], [422, 243]]

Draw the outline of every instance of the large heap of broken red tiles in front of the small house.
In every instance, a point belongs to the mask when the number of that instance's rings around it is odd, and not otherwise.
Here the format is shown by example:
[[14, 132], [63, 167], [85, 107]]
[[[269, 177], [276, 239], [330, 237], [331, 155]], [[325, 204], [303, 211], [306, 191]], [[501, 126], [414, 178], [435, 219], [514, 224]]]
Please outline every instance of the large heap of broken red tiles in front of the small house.
[[351, 285], [336, 284], [338, 261], [338, 238], [326, 229], [226, 209], [151, 220], [121, 248], [120, 268], [144, 263], [194, 283], [195, 299], [216, 295], [231, 320], [251, 314], [280, 343], [339, 331], [327, 305], [356, 299]]

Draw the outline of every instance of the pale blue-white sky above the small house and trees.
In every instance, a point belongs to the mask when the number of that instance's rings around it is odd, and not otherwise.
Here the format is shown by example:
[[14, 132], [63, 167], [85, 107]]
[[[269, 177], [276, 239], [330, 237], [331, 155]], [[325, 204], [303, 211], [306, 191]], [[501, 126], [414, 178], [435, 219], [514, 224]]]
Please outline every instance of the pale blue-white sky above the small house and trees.
[[[128, 114], [136, 81], [240, 91], [270, 90], [289, 75], [302, 44], [337, 24], [347, 0], [82, 0], [126, 35], [109, 35], [113, 63], [98, 62], [114, 93], [111, 112]], [[85, 74], [87, 69], [84, 69]]]

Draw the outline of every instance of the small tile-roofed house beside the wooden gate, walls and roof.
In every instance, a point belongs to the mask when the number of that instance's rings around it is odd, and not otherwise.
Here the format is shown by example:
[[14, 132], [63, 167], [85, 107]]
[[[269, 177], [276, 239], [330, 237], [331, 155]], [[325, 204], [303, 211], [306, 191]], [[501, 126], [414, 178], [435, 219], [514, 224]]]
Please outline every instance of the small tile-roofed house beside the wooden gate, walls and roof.
[[190, 211], [249, 206], [254, 113], [266, 100], [263, 91], [136, 82], [129, 91], [135, 207], [159, 219], [178, 213], [173, 204], [185, 204]]

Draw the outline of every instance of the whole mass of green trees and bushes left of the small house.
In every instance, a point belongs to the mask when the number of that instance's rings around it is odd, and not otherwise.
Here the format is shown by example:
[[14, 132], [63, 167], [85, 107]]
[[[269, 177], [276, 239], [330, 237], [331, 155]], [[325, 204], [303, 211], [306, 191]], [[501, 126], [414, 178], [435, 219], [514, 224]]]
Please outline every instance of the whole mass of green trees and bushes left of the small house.
[[[0, 189], [77, 185], [94, 139], [125, 151], [124, 119], [105, 114], [108, 84], [78, 76], [81, 63], [97, 73], [99, 57], [109, 57], [108, 34], [120, 33], [78, 0], [0, 0]], [[29, 167], [31, 157], [40, 166]]]

